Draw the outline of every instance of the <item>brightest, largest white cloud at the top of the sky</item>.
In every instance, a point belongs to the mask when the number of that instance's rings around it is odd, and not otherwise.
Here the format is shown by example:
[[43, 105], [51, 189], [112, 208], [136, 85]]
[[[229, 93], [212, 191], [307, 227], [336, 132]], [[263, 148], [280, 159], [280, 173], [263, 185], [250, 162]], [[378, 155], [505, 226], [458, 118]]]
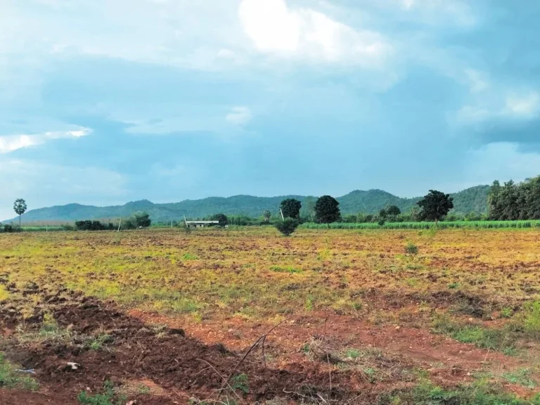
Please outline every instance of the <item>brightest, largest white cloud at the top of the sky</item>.
[[289, 8], [285, 0], [243, 0], [238, 15], [256, 49], [269, 55], [367, 67], [393, 51], [378, 32], [354, 30], [310, 8]]

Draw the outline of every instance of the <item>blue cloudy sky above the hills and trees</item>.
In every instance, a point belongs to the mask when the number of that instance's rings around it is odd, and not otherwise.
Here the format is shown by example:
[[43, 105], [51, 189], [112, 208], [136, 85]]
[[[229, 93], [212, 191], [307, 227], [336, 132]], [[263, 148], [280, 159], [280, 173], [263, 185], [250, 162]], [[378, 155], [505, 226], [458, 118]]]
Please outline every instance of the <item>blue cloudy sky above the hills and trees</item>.
[[540, 174], [540, 2], [0, 0], [0, 219]]

